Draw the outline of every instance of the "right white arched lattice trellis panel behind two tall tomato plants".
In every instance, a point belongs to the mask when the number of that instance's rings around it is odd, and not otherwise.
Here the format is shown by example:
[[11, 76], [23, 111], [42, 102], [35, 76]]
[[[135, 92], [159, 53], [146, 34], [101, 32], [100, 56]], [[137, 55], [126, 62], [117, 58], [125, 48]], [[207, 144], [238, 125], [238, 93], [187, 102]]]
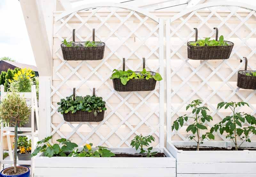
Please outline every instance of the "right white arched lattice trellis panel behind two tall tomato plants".
[[[220, 8], [221, 11], [219, 11]], [[241, 8], [244, 11], [240, 11]], [[167, 142], [175, 141], [176, 145], [194, 145], [192, 141], [189, 141], [190, 134], [186, 133], [184, 128], [179, 129], [178, 131], [172, 131], [171, 129], [172, 122], [177, 117], [186, 114], [185, 107], [193, 99], [201, 99], [203, 104], [208, 106], [211, 110], [210, 113], [213, 120], [214, 117], [221, 120], [225, 116], [231, 114], [231, 112], [221, 112], [217, 110], [217, 103], [222, 101], [248, 102], [251, 110], [239, 110], [255, 116], [256, 105], [253, 100], [255, 100], [256, 91], [244, 90], [236, 87], [237, 71], [243, 70], [244, 68], [244, 62], [241, 64], [239, 63], [240, 59], [243, 60], [243, 57], [247, 57], [250, 69], [256, 70], [256, 48], [254, 46], [256, 21], [253, 20], [256, 18], [255, 10], [256, 7], [243, 3], [236, 2], [230, 4], [227, 2], [214, 2], [197, 5], [178, 13], [166, 21], [166, 73], [167, 76], [170, 75], [170, 77], [167, 78], [166, 94]], [[222, 18], [223, 16], [225, 18]], [[239, 21], [236, 26], [230, 25], [232, 20], [234, 21], [234, 18]], [[226, 32], [226, 35], [223, 34], [225, 40], [234, 40], [235, 46], [230, 59], [222, 61], [189, 60], [186, 51], [187, 42], [194, 40], [195, 31], [193, 28], [198, 28], [198, 36], [200, 39], [203, 39], [205, 37], [214, 38], [215, 30], [213, 27], [219, 28], [220, 35], [223, 31]], [[202, 30], [200, 30], [201, 28]], [[184, 35], [183, 30], [186, 29], [188, 31], [185, 31]], [[221, 29], [223, 31], [221, 31]], [[241, 32], [239, 30], [244, 31]], [[227, 34], [227, 31], [230, 32]], [[204, 35], [202, 35], [202, 33]], [[243, 50], [241, 51], [240, 48]], [[186, 70], [186, 68], [188, 69]], [[202, 74], [200, 69], [204, 69], [206, 72]], [[182, 74], [181, 72], [187, 72], [187, 75]], [[215, 77], [215, 80], [218, 81], [214, 81], [214, 79], [211, 80], [212, 77]], [[179, 84], [175, 82], [178, 82]], [[197, 83], [195, 84], [195, 82]], [[212, 84], [215, 84], [218, 87], [215, 88]], [[189, 94], [186, 94], [184, 90], [182, 90], [184, 87], [187, 89], [185, 91], [188, 93], [190, 92]], [[223, 89], [223, 87], [225, 88]], [[209, 94], [204, 96], [204, 92], [207, 91]], [[210, 93], [211, 91], [212, 93]], [[216, 98], [216, 96], [218, 98]], [[188, 113], [188, 115], [189, 114], [190, 116], [192, 115], [192, 113]], [[216, 122], [213, 123], [207, 122], [206, 125], [211, 127], [217, 122], [219, 121], [216, 120]], [[188, 121], [184, 126], [188, 126], [189, 124], [190, 122]], [[220, 135], [219, 132], [217, 133], [217, 136], [219, 137], [214, 142], [215, 145], [225, 146], [225, 143], [229, 143], [230, 141], [230, 139], [226, 139], [225, 135]], [[255, 145], [255, 137], [253, 137], [252, 134], [250, 136], [254, 142], [251, 144], [245, 143], [245, 146]], [[206, 142], [205, 144], [214, 145], [214, 143]]]

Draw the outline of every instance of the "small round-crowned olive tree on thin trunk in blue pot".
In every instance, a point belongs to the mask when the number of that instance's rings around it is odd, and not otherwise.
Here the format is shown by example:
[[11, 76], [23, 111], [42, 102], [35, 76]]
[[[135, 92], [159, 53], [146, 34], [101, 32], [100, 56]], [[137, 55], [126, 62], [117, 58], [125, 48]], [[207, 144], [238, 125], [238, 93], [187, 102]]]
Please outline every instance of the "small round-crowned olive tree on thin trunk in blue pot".
[[18, 127], [28, 122], [28, 117], [31, 113], [31, 108], [27, 106], [26, 100], [15, 92], [13, 86], [7, 93], [3, 102], [0, 105], [1, 121], [14, 126], [14, 158], [13, 167], [6, 168], [1, 171], [1, 176], [29, 177], [30, 170], [25, 166], [17, 166], [17, 142], [18, 142]]

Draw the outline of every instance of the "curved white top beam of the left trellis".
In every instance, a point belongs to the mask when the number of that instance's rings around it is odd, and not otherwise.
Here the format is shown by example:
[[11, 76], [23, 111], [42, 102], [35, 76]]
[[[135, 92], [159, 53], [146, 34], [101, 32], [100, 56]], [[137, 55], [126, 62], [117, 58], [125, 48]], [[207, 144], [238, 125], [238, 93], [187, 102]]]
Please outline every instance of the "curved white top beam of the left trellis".
[[96, 8], [96, 7], [119, 7], [119, 8], [131, 10], [131, 11], [135, 11], [135, 12], [143, 14], [143, 15], [151, 18], [155, 22], [159, 23], [159, 18], [157, 18], [156, 16], [150, 14], [148, 11], [145, 11], [145, 10], [140, 9], [138, 7], [128, 6], [128, 5], [120, 4], [120, 3], [94, 3], [94, 4], [86, 4], [86, 5], [83, 5], [83, 6], [80, 6], [80, 7], [77, 7], [77, 8], [74, 8], [74, 9], [71, 9], [69, 11], [65, 11], [65, 12], [61, 13], [59, 16], [57, 16], [55, 18], [55, 21], [58, 21], [61, 18], [66, 17], [66, 16], [68, 16], [71, 13], [82, 11], [82, 10], [86, 10], [86, 9]]

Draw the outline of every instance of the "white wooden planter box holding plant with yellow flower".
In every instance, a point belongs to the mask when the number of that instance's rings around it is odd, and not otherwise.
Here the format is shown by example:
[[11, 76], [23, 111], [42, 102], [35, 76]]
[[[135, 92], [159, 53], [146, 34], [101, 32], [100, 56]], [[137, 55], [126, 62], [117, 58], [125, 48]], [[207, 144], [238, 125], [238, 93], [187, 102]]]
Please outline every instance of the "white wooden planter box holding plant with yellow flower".
[[[114, 153], [136, 153], [133, 148], [108, 148]], [[154, 148], [166, 157], [35, 157], [40, 177], [176, 177], [176, 162], [166, 148]], [[152, 151], [152, 152], [153, 152]], [[137, 152], [138, 153], [138, 152]]]

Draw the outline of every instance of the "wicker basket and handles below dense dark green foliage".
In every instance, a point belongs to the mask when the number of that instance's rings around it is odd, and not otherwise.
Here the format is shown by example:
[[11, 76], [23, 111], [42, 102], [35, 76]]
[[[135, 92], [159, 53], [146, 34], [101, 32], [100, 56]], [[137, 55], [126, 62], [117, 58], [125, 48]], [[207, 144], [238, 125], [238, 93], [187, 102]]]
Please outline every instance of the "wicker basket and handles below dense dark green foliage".
[[[73, 88], [74, 100], [76, 98], [75, 93], [76, 88]], [[95, 95], [95, 88], [93, 88], [93, 95]], [[101, 122], [104, 119], [104, 113], [105, 111], [102, 110], [102, 112], [97, 112], [97, 116], [94, 116], [93, 111], [87, 112], [79, 110], [73, 114], [70, 111], [68, 113], [64, 113], [63, 117], [66, 122]]]

